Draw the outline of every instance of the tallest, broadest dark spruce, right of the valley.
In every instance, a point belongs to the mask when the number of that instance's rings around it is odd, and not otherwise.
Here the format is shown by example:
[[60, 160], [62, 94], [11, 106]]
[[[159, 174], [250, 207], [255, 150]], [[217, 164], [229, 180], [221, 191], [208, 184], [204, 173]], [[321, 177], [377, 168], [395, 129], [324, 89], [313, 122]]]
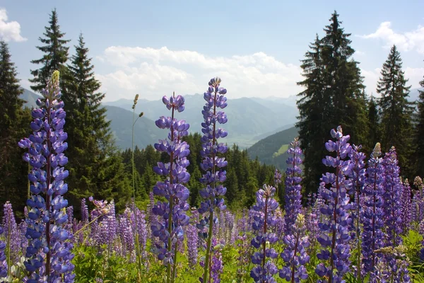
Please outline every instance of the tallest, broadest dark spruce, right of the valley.
[[341, 28], [336, 11], [329, 21], [324, 37], [319, 40], [317, 36], [305, 54], [301, 65], [305, 79], [298, 83], [305, 87], [298, 94], [300, 121], [296, 126], [305, 154], [306, 193], [317, 190], [324, 172], [324, 143], [331, 138], [332, 128], [342, 125], [355, 144], [367, 140], [365, 87], [358, 62], [351, 59], [355, 52], [348, 39], [351, 34]]

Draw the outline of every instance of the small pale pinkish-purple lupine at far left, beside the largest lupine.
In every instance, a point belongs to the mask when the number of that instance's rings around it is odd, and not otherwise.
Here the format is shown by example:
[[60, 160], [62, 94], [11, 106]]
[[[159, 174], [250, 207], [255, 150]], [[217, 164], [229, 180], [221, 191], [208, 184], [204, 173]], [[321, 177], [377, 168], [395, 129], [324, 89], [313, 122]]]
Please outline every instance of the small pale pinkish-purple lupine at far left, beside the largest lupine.
[[7, 246], [6, 256], [8, 257], [8, 272], [10, 272], [10, 267], [13, 265], [13, 262], [18, 262], [19, 260], [21, 238], [18, 224], [16, 224], [15, 216], [13, 215], [12, 204], [10, 202], [6, 202], [4, 204], [3, 227]]

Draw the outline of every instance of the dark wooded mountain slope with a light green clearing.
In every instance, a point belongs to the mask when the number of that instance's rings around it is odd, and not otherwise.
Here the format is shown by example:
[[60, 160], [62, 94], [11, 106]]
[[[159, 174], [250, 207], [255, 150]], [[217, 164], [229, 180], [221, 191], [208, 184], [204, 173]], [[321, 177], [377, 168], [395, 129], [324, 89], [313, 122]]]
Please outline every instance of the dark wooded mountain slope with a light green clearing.
[[261, 139], [247, 149], [250, 158], [258, 157], [261, 163], [276, 166], [284, 171], [287, 168], [287, 149], [295, 137], [298, 137], [298, 129], [291, 127], [276, 134], [272, 134], [265, 139]]

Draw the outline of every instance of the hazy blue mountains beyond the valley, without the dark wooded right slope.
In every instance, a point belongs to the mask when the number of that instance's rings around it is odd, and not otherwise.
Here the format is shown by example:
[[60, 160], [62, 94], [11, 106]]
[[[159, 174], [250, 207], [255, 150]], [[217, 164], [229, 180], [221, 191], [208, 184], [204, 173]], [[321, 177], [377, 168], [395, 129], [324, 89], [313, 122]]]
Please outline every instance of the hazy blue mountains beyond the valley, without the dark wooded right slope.
[[[25, 106], [36, 107], [35, 101], [40, 96], [25, 88], [23, 91], [21, 97], [27, 101]], [[190, 131], [201, 132], [201, 122], [203, 121], [201, 110], [205, 103], [203, 95], [187, 95], [184, 98], [185, 110], [181, 113], [177, 112], [176, 117], [179, 120], [186, 120], [190, 124]], [[293, 127], [298, 110], [284, 102], [284, 98], [229, 100], [228, 106], [225, 108], [228, 122], [223, 125], [223, 128], [228, 131], [225, 142], [237, 144], [241, 148], [248, 148], [270, 134]], [[133, 100], [128, 99], [103, 103], [107, 109], [107, 120], [112, 121], [111, 130], [120, 149], [131, 147], [132, 104]], [[160, 116], [170, 115], [162, 100], [139, 99], [136, 111], [137, 115], [139, 112], [144, 112], [144, 115], [136, 122], [134, 144], [143, 148], [166, 137], [166, 132], [158, 129], [154, 122]]]

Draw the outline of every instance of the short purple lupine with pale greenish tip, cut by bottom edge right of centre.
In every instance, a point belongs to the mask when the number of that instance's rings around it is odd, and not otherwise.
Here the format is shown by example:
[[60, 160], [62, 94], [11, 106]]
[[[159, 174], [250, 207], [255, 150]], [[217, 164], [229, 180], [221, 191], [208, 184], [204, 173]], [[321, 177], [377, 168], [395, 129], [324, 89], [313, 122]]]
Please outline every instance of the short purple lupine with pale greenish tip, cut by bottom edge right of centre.
[[292, 231], [284, 236], [286, 246], [281, 258], [285, 266], [280, 270], [280, 277], [291, 283], [299, 283], [307, 279], [305, 264], [310, 261], [305, 248], [310, 246], [309, 239], [305, 236], [305, 216], [298, 214]]

